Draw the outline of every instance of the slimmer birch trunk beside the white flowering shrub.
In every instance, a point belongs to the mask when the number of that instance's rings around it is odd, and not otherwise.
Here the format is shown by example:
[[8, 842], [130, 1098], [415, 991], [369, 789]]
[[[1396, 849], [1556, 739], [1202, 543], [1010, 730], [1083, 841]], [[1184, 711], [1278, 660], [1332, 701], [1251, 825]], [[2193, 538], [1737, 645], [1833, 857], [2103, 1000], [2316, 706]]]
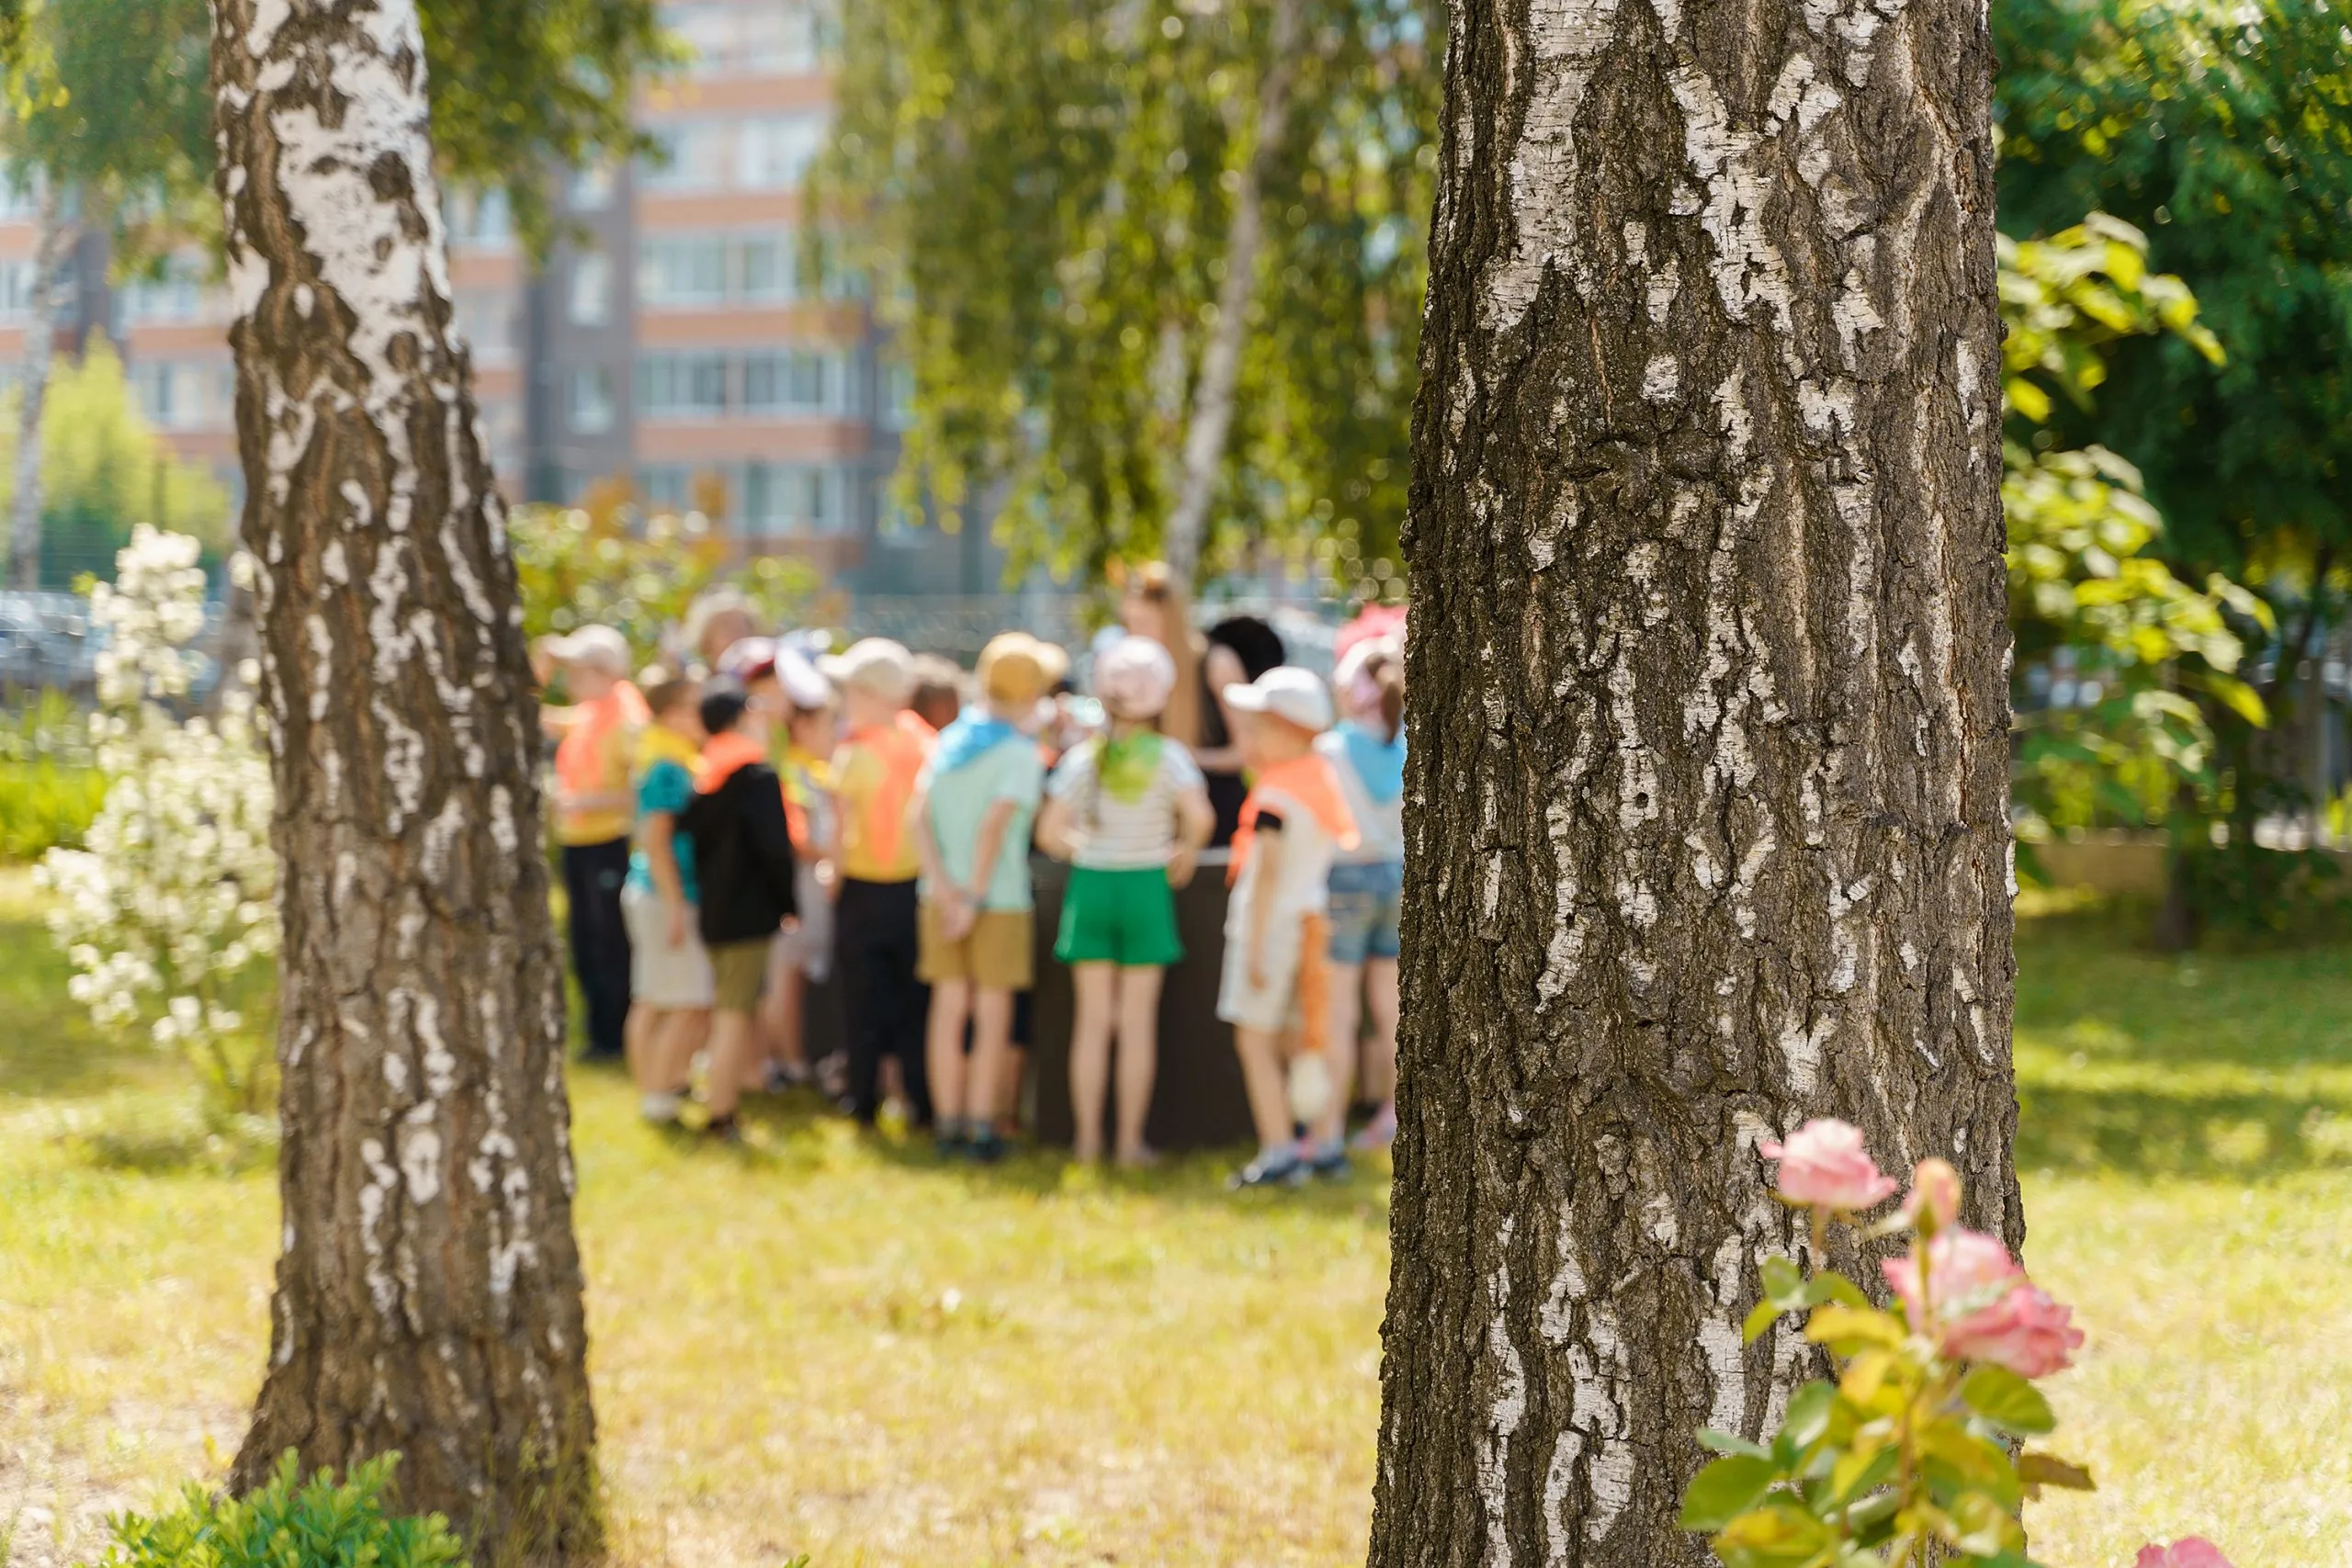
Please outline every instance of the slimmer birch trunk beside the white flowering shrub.
[[536, 703], [412, 0], [216, 0], [282, 858], [270, 1366], [235, 1483], [397, 1448], [477, 1561], [595, 1544]]

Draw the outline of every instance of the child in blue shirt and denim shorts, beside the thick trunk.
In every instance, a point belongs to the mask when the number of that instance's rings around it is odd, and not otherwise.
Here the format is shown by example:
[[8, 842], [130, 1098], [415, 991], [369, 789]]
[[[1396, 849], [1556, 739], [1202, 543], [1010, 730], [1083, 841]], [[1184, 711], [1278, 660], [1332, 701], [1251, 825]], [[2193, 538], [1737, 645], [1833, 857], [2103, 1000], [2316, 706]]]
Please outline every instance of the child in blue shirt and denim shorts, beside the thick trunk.
[[[1357, 1147], [1385, 1150], [1397, 1135], [1397, 907], [1404, 896], [1404, 651], [1388, 637], [1355, 644], [1331, 677], [1345, 717], [1315, 741], [1364, 842], [1331, 867], [1331, 1112], [1317, 1131], [1317, 1159], [1336, 1166], [1359, 1081], [1381, 1098]], [[1371, 1004], [1364, 1070], [1355, 1072], [1357, 1025]]]

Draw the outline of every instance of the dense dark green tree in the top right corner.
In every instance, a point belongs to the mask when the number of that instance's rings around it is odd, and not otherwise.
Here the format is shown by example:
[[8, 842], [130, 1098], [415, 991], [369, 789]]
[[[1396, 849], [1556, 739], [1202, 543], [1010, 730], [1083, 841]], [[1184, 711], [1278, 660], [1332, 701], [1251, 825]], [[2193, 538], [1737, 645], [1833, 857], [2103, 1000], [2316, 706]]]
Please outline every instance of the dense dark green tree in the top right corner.
[[2051, 233], [2107, 212], [2194, 289], [2227, 348], [2119, 343], [2096, 407], [2060, 409], [2147, 477], [2164, 552], [2274, 599], [2317, 595], [2352, 550], [2352, 49], [2331, 0], [2241, 7], [2004, 0], [2002, 221]]

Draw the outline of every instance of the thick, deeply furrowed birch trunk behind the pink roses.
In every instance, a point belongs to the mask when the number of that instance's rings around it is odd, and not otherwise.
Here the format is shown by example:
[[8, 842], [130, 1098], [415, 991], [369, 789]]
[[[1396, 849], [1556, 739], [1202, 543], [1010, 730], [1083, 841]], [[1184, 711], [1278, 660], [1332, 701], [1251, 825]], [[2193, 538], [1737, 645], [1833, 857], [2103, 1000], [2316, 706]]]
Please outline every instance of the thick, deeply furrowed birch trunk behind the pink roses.
[[1759, 1135], [2011, 1138], [1976, 0], [1461, 0], [1416, 411], [1371, 1561], [1700, 1563]]

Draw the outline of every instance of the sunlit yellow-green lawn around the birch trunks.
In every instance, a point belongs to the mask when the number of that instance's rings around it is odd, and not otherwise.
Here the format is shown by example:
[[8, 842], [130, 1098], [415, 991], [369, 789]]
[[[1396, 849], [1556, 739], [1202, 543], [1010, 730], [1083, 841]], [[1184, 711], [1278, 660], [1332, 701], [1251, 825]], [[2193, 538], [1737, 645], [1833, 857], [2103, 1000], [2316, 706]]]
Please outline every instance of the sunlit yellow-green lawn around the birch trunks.
[[[0, 1530], [216, 1474], [261, 1371], [270, 1178], [125, 1166], [176, 1070], [94, 1039], [0, 882]], [[2352, 1561], [2352, 952], [2138, 954], [2020, 929], [2027, 1260], [2077, 1302], [2034, 1512], [2053, 1568], [2199, 1530], [2244, 1568]], [[804, 1105], [753, 1147], [574, 1079], [621, 1563], [1362, 1561], [1388, 1276], [1381, 1173], [1232, 1201], [1218, 1161], [943, 1171]], [[165, 1140], [167, 1143], [167, 1140]], [[45, 1509], [26, 1514], [24, 1509]], [[31, 1523], [26, 1523], [31, 1521]]]

